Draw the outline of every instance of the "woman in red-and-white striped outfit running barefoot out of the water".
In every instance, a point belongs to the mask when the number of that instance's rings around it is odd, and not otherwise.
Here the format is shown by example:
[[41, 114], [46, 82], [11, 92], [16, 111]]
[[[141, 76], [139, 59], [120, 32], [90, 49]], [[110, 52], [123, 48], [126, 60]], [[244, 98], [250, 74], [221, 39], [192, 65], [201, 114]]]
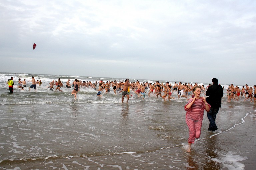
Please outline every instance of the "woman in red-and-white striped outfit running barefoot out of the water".
[[206, 102], [205, 97], [200, 97], [201, 88], [196, 86], [193, 89], [195, 95], [194, 98], [188, 100], [185, 105], [186, 123], [189, 129], [188, 148], [186, 152], [191, 152], [191, 144], [195, 142], [195, 138], [199, 138], [201, 135], [201, 127], [203, 123], [204, 110], [207, 112], [211, 106]]

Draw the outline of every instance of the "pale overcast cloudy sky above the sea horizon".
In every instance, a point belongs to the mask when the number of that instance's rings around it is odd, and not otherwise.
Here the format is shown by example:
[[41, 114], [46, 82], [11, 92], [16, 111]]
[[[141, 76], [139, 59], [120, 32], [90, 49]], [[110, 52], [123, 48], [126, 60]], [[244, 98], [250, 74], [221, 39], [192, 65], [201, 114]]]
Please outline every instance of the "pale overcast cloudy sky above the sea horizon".
[[2, 0], [0, 23], [0, 72], [256, 84], [254, 0]]

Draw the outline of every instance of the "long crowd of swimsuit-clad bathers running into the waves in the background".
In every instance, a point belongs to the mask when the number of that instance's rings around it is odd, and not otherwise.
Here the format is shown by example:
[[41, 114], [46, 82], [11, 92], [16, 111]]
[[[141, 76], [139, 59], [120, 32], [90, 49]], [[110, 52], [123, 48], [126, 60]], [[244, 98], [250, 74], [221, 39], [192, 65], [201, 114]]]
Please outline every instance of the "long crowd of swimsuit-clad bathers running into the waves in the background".
[[[9, 81], [11, 80], [11, 81]], [[9, 89], [10, 92], [13, 92], [13, 77], [11, 77], [11, 79], [9, 79], [7, 84], [9, 85]], [[28, 80], [32, 82], [32, 85], [29, 86], [29, 90], [31, 88], [36, 89], [36, 86], [39, 85], [41, 86], [43, 83], [41, 80], [35, 80], [34, 77], [32, 76], [32, 80]], [[126, 82], [128, 81], [128, 82]], [[126, 83], [129, 83], [127, 89], [126, 89]], [[180, 97], [183, 98], [190, 98], [193, 96], [193, 89], [196, 86], [199, 86], [201, 89], [202, 94], [205, 94], [206, 90], [208, 89], [208, 87], [211, 84], [209, 84], [207, 87], [204, 87], [204, 85], [198, 85], [197, 83], [190, 84], [190, 83], [183, 83], [179, 82], [175, 84], [171, 84], [168, 81], [164, 84], [164, 83], [159, 83], [159, 81], [156, 81], [155, 83], [148, 83], [148, 82], [139, 82], [138, 80], [136, 82], [129, 82], [129, 79], [126, 79], [124, 82], [122, 81], [102, 81], [102, 80], [97, 80], [95, 83], [92, 83], [91, 81], [82, 81], [82, 80], [78, 80], [75, 79], [72, 83], [70, 82], [70, 79], [68, 79], [68, 81], [66, 82], [66, 88], [73, 88], [71, 94], [75, 96], [76, 99], [76, 94], [78, 91], [80, 91], [80, 88], [90, 88], [90, 89], [94, 89], [97, 91], [97, 96], [102, 97], [102, 92], [104, 91], [105, 94], [110, 92], [110, 88], [113, 89], [114, 94], [118, 94], [118, 93], [122, 93], [123, 96], [127, 96], [128, 98], [128, 93], [130, 95], [130, 89], [133, 91], [133, 93], [135, 95], [137, 95], [138, 97], [142, 97], [143, 99], [148, 96], [155, 96], [156, 98], [160, 97], [162, 98], [164, 101], [166, 101], [167, 99], [170, 101], [171, 99], [175, 99], [174, 97], [172, 97], [172, 93], [175, 92], [178, 95], [178, 100], [180, 99]], [[18, 80], [18, 88], [20, 88], [21, 90], [24, 90], [24, 87], [27, 86], [26, 83], [26, 79], [24, 79], [23, 81], [21, 81], [21, 79], [19, 78]], [[98, 88], [97, 88], [98, 86]], [[62, 88], [63, 88], [63, 84], [60, 80], [60, 78], [58, 80], [53, 80], [52, 82], [49, 83], [49, 86], [47, 86], [48, 88], [50, 88], [50, 90], [59, 90], [62, 92]], [[147, 90], [148, 89], [148, 90]], [[224, 89], [224, 86], [223, 86]], [[147, 95], [146, 95], [146, 91]], [[231, 99], [233, 99], [234, 101], [238, 101], [240, 100], [241, 96], [244, 96], [245, 99], [244, 101], [246, 101], [247, 99], [250, 99], [250, 101], [252, 102], [252, 100], [254, 101], [254, 103], [256, 104], [256, 86], [253, 87], [249, 87], [247, 84], [245, 86], [243, 86], [241, 89], [238, 86], [234, 86], [233, 84], [231, 84], [228, 88], [227, 88], [227, 102], [231, 102]], [[128, 102], [127, 100], [127, 102]]]

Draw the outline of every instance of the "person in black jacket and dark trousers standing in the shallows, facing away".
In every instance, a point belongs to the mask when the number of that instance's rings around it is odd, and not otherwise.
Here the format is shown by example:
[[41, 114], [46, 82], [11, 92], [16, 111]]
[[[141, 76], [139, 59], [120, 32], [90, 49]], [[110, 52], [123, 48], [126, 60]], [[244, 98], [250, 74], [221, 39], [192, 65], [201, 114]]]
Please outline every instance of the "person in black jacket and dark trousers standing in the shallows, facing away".
[[211, 105], [211, 109], [207, 112], [207, 118], [209, 120], [209, 131], [217, 130], [217, 125], [215, 123], [216, 115], [221, 107], [221, 98], [223, 96], [223, 88], [218, 85], [218, 79], [212, 79], [212, 85], [208, 87], [205, 95], [209, 96], [206, 98], [207, 103]]

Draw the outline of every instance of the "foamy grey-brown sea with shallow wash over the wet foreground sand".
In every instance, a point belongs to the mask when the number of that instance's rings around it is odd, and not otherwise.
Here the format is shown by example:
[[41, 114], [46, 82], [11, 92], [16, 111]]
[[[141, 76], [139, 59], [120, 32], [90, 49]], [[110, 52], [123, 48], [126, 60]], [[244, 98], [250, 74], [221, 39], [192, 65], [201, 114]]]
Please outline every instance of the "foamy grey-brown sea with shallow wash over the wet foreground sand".
[[[13, 76], [14, 91], [7, 80]], [[42, 85], [29, 91], [34, 76]], [[24, 90], [18, 79], [26, 79]], [[61, 91], [51, 91], [52, 80], [61, 79]], [[201, 136], [186, 153], [188, 127], [186, 98], [138, 98], [131, 91], [127, 103], [113, 88], [102, 98], [97, 91], [81, 88], [77, 99], [66, 81], [136, 81], [132, 77], [91, 77], [28, 73], [0, 73], [0, 169], [4, 170], [251, 170], [256, 163], [256, 105], [244, 96], [227, 101], [224, 86], [222, 107], [216, 117], [218, 130], [208, 131], [206, 112]], [[209, 78], [211, 80], [212, 78]], [[180, 80], [146, 80], [174, 84]], [[195, 82], [182, 82], [194, 84]], [[197, 82], [205, 87], [211, 82]], [[219, 82], [221, 83], [221, 82]], [[240, 87], [242, 86], [239, 85]], [[241, 89], [241, 88], [240, 88]], [[204, 93], [201, 94], [204, 96]]]

